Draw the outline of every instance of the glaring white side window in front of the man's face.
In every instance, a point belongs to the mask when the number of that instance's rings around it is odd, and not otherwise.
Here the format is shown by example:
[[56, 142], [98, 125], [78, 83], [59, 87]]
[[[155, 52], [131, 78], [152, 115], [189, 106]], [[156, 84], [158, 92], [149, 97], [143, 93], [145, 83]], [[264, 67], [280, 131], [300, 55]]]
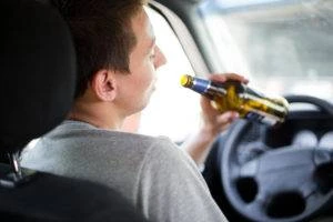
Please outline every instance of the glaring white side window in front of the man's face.
[[180, 142], [199, 125], [200, 97], [180, 85], [181, 74], [194, 74], [194, 71], [165, 19], [152, 9], [147, 11], [155, 32], [157, 44], [168, 62], [158, 70], [157, 90], [149, 105], [140, 113], [138, 132], [168, 135], [174, 142]]

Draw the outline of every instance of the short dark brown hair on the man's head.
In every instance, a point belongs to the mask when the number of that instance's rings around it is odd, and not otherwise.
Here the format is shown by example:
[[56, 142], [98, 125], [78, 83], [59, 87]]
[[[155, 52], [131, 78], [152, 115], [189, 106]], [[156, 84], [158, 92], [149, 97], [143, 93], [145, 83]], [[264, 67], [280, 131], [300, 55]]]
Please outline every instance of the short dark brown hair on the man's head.
[[78, 59], [75, 98], [100, 69], [129, 72], [137, 43], [131, 19], [148, 0], [53, 0], [71, 29]]

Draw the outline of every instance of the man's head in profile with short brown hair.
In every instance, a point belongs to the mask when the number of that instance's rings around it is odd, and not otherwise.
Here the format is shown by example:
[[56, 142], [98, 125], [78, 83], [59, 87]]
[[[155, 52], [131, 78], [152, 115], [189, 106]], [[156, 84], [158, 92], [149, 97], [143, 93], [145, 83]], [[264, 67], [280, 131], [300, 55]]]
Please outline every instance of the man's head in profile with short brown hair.
[[155, 70], [165, 62], [143, 8], [147, 0], [53, 1], [69, 22], [78, 54], [70, 118], [121, 122], [142, 110], [154, 89]]

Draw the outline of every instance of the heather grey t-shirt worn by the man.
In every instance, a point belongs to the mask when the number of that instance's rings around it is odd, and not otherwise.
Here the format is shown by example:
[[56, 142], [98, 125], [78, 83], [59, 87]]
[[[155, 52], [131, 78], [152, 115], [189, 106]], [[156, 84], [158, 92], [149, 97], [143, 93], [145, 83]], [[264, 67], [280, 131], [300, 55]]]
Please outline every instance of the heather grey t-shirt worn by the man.
[[21, 164], [111, 186], [151, 221], [226, 221], [195, 163], [168, 138], [64, 121]]

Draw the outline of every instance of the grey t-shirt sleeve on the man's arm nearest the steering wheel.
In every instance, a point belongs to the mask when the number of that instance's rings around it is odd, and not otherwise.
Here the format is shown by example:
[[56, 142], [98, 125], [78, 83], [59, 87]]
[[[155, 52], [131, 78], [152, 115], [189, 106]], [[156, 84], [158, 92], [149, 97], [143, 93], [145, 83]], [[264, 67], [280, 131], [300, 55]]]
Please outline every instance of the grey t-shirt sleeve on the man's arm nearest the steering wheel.
[[137, 200], [150, 221], [226, 221], [194, 162], [164, 138], [158, 139], [145, 155]]

